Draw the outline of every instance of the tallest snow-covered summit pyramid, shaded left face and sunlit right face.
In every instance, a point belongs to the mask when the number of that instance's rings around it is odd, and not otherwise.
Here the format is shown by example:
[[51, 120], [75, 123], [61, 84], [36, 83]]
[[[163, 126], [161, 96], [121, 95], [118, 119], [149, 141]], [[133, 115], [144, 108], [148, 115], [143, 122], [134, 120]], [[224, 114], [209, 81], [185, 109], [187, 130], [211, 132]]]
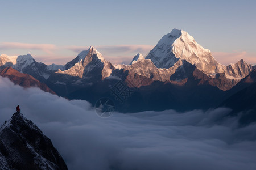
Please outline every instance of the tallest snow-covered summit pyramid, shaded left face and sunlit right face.
[[205, 73], [214, 73], [218, 65], [210, 50], [197, 44], [187, 32], [177, 29], [163, 36], [146, 58], [151, 59], [158, 68], [166, 69], [173, 66], [179, 58], [185, 59]]

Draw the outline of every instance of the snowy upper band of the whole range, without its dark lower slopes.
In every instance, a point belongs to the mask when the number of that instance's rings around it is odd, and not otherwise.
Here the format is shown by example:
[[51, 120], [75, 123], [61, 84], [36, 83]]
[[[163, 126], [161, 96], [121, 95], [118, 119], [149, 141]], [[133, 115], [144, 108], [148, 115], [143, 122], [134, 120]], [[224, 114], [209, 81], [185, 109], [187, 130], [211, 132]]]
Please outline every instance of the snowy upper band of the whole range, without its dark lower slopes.
[[[220, 65], [213, 58], [210, 50], [204, 49], [197, 44], [195, 39], [187, 32], [177, 29], [173, 29], [171, 33], [163, 36], [155, 48], [152, 49], [145, 58], [141, 54], [137, 54], [130, 65], [113, 65], [111, 62], [106, 61], [101, 53], [97, 52], [93, 46], [90, 46], [88, 50], [82, 51], [65, 66], [47, 66], [43, 63], [38, 63], [30, 54], [18, 56], [16, 62], [15, 56], [10, 57], [10, 59], [6, 58], [5, 55], [0, 57], [2, 67], [13, 65], [14, 69], [22, 73], [30, 74], [41, 82], [46, 82], [49, 76], [55, 71], [55, 73], [76, 76], [81, 79], [90, 79], [97, 73], [101, 74], [97, 77], [103, 80], [110, 76], [116, 76], [115, 73], [117, 72], [119, 75], [123, 70], [128, 70], [129, 74], [141, 75], [153, 81], [159, 80], [164, 82], [170, 80], [172, 74], [175, 73], [177, 68], [181, 68], [183, 60], [185, 60], [195, 65], [200, 71], [203, 71], [203, 73], [206, 74], [205, 77], [218, 79], [219, 75], [223, 73], [226, 79], [232, 80], [231, 83], [225, 83], [225, 86], [224, 84], [218, 83], [220, 85], [217, 85], [217, 87], [224, 91], [232, 88], [252, 70], [252, 66], [243, 60], [229, 66]], [[156, 69], [152, 66], [150, 61], [143, 61], [143, 58], [152, 61]], [[134, 61], [138, 60], [140, 61], [140, 65], [138, 65], [138, 63], [133, 64]], [[172, 80], [179, 82], [181, 80], [180, 78], [176, 80], [172, 78]], [[79, 82], [81, 82], [81, 80], [79, 80]], [[56, 80], [55, 83], [64, 84], [65, 82]], [[140, 85], [142, 86], [142, 84]], [[212, 83], [211, 85], [216, 86], [216, 83]]]

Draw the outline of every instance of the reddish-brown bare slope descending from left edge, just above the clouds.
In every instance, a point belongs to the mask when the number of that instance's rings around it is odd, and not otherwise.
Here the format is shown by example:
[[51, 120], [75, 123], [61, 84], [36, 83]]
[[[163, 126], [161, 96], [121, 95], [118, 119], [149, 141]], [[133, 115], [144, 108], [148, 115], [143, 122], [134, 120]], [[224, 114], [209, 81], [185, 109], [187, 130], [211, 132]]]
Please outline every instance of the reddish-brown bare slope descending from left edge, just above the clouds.
[[45, 92], [55, 94], [55, 92], [52, 91], [48, 86], [46, 86], [46, 84], [39, 82], [39, 80], [35, 79], [31, 75], [20, 73], [12, 67], [7, 67], [5, 69], [0, 70], [0, 76], [7, 77], [14, 84], [18, 84], [25, 88], [38, 87]]

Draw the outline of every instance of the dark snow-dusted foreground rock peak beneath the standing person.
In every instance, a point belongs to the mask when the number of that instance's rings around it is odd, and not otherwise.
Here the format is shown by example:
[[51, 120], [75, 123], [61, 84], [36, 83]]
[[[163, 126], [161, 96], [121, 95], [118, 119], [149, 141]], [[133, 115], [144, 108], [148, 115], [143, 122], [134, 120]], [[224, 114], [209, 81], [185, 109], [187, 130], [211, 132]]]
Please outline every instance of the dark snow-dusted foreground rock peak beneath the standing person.
[[2, 169], [68, 169], [51, 140], [20, 113], [1, 126], [0, 160]]

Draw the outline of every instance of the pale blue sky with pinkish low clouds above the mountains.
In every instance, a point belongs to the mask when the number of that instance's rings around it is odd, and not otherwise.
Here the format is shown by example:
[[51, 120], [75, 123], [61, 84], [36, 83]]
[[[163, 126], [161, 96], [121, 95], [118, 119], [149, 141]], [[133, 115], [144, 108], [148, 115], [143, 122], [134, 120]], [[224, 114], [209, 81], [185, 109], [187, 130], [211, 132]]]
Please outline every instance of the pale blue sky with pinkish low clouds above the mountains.
[[[146, 54], [177, 28], [210, 49], [217, 61], [241, 56], [256, 63], [255, 9], [256, 1], [0, 1], [0, 53], [31, 52], [39, 61], [64, 64], [93, 45], [106, 59], [122, 62], [141, 48], [122, 55], [119, 45], [148, 45], [140, 52]], [[31, 44], [53, 46], [47, 51]], [[118, 53], [101, 51], [102, 46]]]

